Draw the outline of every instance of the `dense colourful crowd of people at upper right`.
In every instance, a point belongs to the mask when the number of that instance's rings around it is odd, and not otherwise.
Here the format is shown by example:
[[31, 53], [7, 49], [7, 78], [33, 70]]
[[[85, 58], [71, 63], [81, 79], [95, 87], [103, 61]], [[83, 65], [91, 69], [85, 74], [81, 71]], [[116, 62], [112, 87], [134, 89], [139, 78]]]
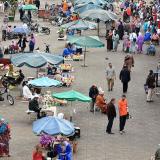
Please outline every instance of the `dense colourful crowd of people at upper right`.
[[120, 18], [114, 27], [107, 30], [107, 50], [117, 51], [119, 41], [123, 40], [122, 50], [125, 53], [155, 55], [155, 46], [160, 40], [159, 5], [148, 6], [145, 1], [127, 0], [120, 6], [123, 20]]

